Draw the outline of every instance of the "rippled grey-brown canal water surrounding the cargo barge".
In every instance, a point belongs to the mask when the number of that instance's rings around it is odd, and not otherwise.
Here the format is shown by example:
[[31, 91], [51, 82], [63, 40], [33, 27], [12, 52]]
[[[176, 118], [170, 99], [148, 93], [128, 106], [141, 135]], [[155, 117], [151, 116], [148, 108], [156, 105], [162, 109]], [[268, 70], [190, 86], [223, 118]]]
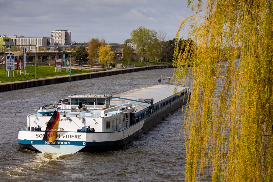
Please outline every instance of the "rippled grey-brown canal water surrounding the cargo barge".
[[155, 69], [0, 93], [0, 180], [183, 181], [186, 153], [180, 129], [185, 106], [117, 151], [62, 155], [25, 150], [17, 143], [18, 130], [26, 126], [27, 115], [49, 101], [73, 93], [115, 96], [156, 85], [161, 75], [173, 73], [174, 69]]

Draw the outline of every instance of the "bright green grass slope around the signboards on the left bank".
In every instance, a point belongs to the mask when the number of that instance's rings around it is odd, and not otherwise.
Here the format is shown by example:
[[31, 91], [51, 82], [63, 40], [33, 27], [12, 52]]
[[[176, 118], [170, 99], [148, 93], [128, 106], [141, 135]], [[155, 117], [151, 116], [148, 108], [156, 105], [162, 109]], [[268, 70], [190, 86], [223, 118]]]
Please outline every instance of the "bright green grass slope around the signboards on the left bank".
[[[8, 77], [8, 72], [6, 76], [5, 68], [0, 68], [0, 81], [2, 83], [5, 83], [5, 82], [35, 79], [35, 66], [28, 65], [26, 71], [30, 71], [30, 73], [26, 73], [26, 75], [24, 75], [23, 70], [21, 70], [21, 75], [20, 75], [20, 70], [18, 70], [18, 75], [17, 75], [17, 70], [14, 70], [14, 76], [11, 77], [9, 74], [9, 77]], [[71, 69], [71, 75], [80, 74], [80, 73], [90, 73], [90, 72], [91, 71], [89, 70]], [[45, 78], [45, 77], [62, 76], [62, 75], [69, 75], [69, 72], [62, 72], [62, 70], [61, 72], [55, 72], [54, 66], [49, 66], [49, 68], [47, 66], [36, 67], [36, 78]]]

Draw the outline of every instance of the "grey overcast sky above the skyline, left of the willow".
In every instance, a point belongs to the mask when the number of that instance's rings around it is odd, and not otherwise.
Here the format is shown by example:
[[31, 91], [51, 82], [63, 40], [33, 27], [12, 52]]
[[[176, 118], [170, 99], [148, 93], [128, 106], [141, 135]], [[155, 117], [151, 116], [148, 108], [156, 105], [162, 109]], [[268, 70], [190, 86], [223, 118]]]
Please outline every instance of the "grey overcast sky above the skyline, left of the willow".
[[66, 29], [71, 41], [98, 37], [110, 43], [129, 39], [140, 26], [173, 39], [192, 14], [187, 0], [0, 0], [0, 10], [0, 35], [51, 37], [51, 31]]

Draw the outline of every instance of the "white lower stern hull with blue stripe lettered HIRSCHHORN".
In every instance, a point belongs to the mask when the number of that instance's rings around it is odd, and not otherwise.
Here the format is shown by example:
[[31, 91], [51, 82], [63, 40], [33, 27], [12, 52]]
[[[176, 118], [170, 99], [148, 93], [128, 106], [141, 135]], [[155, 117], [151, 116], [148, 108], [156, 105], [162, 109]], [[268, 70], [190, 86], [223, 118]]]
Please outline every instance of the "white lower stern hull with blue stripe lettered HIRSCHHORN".
[[[45, 131], [19, 130], [18, 143], [21, 147], [49, 153], [76, 153], [114, 150], [139, 136], [144, 120], [117, 132], [57, 132], [55, 142], [42, 140]], [[26, 128], [25, 128], [26, 129]]]

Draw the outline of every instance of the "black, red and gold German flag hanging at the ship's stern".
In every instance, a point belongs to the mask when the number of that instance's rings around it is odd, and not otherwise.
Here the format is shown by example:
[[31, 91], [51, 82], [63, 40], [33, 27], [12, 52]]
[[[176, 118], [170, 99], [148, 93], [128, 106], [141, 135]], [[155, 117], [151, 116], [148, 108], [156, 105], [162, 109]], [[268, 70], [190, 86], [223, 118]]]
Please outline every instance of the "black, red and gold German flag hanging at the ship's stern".
[[55, 142], [60, 117], [61, 117], [60, 112], [54, 111], [52, 117], [50, 118], [49, 122], [46, 125], [45, 135], [43, 137], [43, 140], [47, 142]]

